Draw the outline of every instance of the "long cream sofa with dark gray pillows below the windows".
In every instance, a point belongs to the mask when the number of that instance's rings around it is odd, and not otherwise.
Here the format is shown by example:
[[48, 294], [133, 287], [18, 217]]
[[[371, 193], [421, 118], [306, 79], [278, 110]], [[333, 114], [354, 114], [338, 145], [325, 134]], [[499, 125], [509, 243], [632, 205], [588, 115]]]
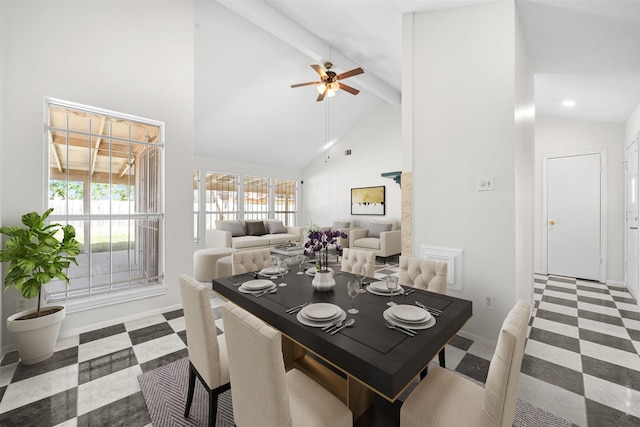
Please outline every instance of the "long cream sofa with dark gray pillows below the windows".
[[[262, 223], [263, 229], [260, 228]], [[287, 242], [304, 243], [303, 228], [282, 225], [275, 219], [216, 221], [216, 228], [207, 230], [209, 248], [250, 250], [268, 248]]]

